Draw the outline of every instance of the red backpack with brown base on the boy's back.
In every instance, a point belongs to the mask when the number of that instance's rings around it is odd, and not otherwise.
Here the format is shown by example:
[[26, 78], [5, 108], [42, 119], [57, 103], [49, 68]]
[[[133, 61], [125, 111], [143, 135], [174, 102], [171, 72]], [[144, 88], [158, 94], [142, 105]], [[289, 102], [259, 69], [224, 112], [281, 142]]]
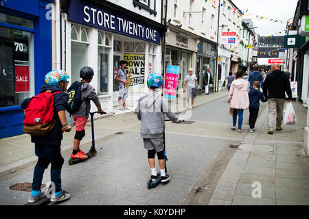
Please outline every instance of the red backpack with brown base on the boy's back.
[[42, 92], [33, 96], [25, 109], [23, 131], [32, 136], [45, 136], [52, 131], [54, 119], [54, 94], [58, 92]]

